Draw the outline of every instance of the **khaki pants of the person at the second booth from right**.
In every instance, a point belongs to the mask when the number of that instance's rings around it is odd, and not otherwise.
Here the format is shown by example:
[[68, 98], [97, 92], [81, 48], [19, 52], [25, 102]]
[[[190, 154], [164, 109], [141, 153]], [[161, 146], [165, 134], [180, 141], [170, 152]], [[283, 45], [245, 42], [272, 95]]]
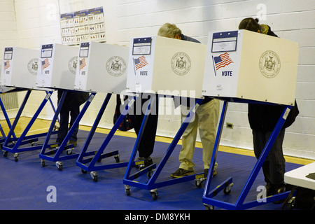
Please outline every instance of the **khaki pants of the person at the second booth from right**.
[[[193, 155], [195, 151], [197, 130], [199, 129], [200, 139], [202, 141], [202, 160], [204, 169], [209, 169], [214, 143], [216, 141], [216, 126], [218, 125], [220, 102], [218, 99], [212, 99], [207, 104], [197, 105], [195, 119], [187, 126], [182, 136], [183, 148], [179, 153], [179, 168], [194, 171]], [[187, 110], [187, 109], [186, 109]], [[181, 121], [185, 120], [187, 115], [182, 113]]]

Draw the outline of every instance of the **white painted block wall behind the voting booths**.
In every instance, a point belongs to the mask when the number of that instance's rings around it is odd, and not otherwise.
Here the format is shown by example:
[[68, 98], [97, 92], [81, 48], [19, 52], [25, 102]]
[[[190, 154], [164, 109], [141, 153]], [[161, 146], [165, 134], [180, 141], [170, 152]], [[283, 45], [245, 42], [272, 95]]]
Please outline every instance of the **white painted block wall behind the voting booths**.
[[[14, 4], [13, 4], [14, 3]], [[237, 29], [246, 17], [260, 17], [281, 38], [299, 44], [300, 57], [297, 74], [296, 99], [300, 115], [292, 127], [286, 130], [283, 150], [286, 155], [315, 159], [315, 1], [314, 0], [15, 0], [0, 1], [0, 23], [8, 31], [0, 36], [1, 47], [19, 45], [39, 48], [42, 43], [61, 43], [59, 13], [85, 8], [104, 7], [106, 39], [108, 43], [129, 45], [134, 36], [156, 35], [165, 22], [176, 23], [183, 34], [207, 44], [212, 30]], [[13, 8], [14, 6], [14, 8]], [[6, 21], [16, 29], [7, 26]], [[1, 26], [0, 34], [3, 34]], [[6, 33], [5, 31], [5, 33]], [[15, 32], [18, 38], [15, 38]], [[2, 55], [1, 55], [2, 56]], [[34, 113], [43, 93], [34, 93], [34, 103], [28, 106], [26, 115]], [[105, 94], [97, 94], [81, 124], [92, 125]], [[56, 97], [52, 97], [56, 101]], [[113, 99], [100, 126], [112, 127]], [[221, 103], [222, 105], [222, 103]], [[160, 110], [169, 106], [161, 103]], [[158, 134], [174, 137], [179, 128], [179, 111], [172, 116], [160, 116]], [[45, 109], [42, 118], [52, 118], [51, 109]], [[221, 144], [252, 149], [252, 134], [248, 125], [247, 105], [229, 104], [226, 122], [234, 128], [223, 130]]]

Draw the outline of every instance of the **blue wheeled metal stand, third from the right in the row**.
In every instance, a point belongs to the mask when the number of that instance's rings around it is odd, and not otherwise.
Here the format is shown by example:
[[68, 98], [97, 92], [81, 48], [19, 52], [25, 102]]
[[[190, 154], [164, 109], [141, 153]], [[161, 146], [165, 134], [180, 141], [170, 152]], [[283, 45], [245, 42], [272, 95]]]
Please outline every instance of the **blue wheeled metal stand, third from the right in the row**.
[[[76, 165], [81, 168], [81, 171], [83, 173], [91, 172], [90, 175], [92, 176], [93, 181], [97, 181], [97, 172], [98, 170], [104, 170], [104, 169], [114, 169], [119, 167], [127, 167], [128, 162], [120, 162], [119, 159], [119, 153], [118, 151], [113, 151], [110, 153], [104, 153], [104, 150], [106, 146], [109, 144], [109, 141], [111, 141], [113, 135], [115, 134], [116, 130], [118, 129], [120, 123], [122, 123], [123, 119], [125, 118], [126, 114], [130, 110], [130, 107], [134, 103], [134, 100], [136, 97], [133, 97], [132, 100], [125, 106], [125, 109], [123, 113], [120, 114], [118, 120], [111, 128], [111, 131], [109, 134], [107, 134], [106, 139], [104, 139], [102, 146], [97, 151], [89, 151], [87, 152], [87, 147], [90, 144], [90, 141], [92, 140], [92, 137], [94, 135], [95, 130], [97, 129], [97, 125], [99, 124], [99, 120], [101, 120], [102, 115], [106, 109], [106, 106], [109, 102], [109, 99], [111, 98], [111, 94], [107, 94], [104, 103], [102, 104], [102, 107], [97, 115], [96, 120], [94, 121], [94, 124], [92, 126], [92, 129], [90, 130], [90, 133], [85, 141], [85, 144], [83, 146], [83, 149], [78, 157], [78, 160], [76, 161]], [[92, 156], [92, 157], [91, 157]], [[109, 158], [113, 156], [116, 160], [116, 164], [109, 164], [109, 165], [96, 165], [96, 162], [99, 162], [103, 158]], [[86, 158], [90, 157], [90, 158]]]

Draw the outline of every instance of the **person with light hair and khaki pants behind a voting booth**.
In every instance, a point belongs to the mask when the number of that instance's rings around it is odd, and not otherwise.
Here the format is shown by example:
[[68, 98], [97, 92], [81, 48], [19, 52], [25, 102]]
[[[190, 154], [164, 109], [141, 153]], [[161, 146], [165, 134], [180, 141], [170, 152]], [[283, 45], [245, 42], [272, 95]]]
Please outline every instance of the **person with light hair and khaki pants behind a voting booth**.
[[[158, 31], [158, 36], [165, 36], [168, 38], [176, 38], [183, 41], [192, 41], [200, 43], [194, 38], [185, 36], [182, 34], [181, 29], [169, 23], [162, 25]], [[187, 114], [183, 111], [190, 111], [189, 100], [181, 101], [182, 113], [181, 121], [187, 117]], [[174, 104], [176, 106], [178, 98], [174, 99]], [[184, 103], [187, 102], [187, 103]], [[195, 164], [193, 163], [193, 155], [195, 151], [197, 130], [200, 132], [200, 139], [202, 141], [202, 160], [204, 162], [204, 176], [208, 175], [209, 166], [211, 162], [211, 155], [214, 150], [214, 143], [216, 141], [216, 126], [218, 125], [219, 116], [219, 101], [218, 99], [213, 99], [211, 97], [205, 97], [200, 105], [196, 105], [195, 119], [191, 120], [187, 126], [185, 132], [182, 135], [182, 146], [181, 152], [179, 153], [179, 169], [172, 173], [172, 178], [180, 178], [182, 176], [188, 176], [195, 174]], [[216, 167], [214, 168], [216, 169]], [[216, 174], [216, 171], [214, 171]]]

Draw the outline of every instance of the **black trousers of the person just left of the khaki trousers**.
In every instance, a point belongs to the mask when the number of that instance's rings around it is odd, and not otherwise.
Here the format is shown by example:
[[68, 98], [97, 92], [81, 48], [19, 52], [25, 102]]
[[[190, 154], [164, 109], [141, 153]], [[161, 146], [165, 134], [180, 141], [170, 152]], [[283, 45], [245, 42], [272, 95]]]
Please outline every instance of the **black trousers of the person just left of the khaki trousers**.
[[[155, 99], [153, 104], [151, 104], [151, 111], [153, 113], [148, 114], [148, 121], [144, 127], [144, 134], [139, 143], [138, 153], [139, 157], [148, 158], [153, 153], [153, 148], [155, 144], [155, 135], [158, 127], [158, 94], [153, 94], [151, 97]], [[148, 98], [142, 98], [141, 95], [137, 97], [134, 105], [141, 104], [141, 109], [134, 109], [133, 114], [130, 113], [130, 119], [132, 120], [132, 125], [134, 126], [134, 131], [137, 136], [139, 135], [140, 127], [142, 121], [144, 120], [144, 115], [146, 113], [146, 105], [148, 104]]]

